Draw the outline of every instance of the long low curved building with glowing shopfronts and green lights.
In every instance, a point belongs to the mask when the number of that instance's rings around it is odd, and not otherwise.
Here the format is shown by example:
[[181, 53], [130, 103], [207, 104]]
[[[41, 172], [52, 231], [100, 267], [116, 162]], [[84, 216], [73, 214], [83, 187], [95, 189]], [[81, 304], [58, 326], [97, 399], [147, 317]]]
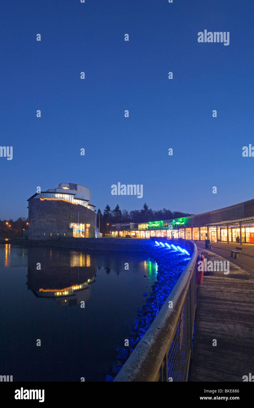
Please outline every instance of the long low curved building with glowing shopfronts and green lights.
[[[241, 231], [241, 233], [240, 233]], [[230, 207], [174, 220], [111, 224], [112, 237], [174, 237], [213, 242], [254, 243], [254, 199]]]

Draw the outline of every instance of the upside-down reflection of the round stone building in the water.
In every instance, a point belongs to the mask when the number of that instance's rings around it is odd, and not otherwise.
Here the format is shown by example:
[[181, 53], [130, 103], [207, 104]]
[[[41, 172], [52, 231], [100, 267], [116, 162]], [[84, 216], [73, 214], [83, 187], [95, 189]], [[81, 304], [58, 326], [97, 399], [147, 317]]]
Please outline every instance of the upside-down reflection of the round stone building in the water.
[[55, 300], [59, 306], [80, 305], [91, 298], [95, 260], [89, 254], [66, 255], [51, 248], [29, 248], [27, 287], [36, 297]]

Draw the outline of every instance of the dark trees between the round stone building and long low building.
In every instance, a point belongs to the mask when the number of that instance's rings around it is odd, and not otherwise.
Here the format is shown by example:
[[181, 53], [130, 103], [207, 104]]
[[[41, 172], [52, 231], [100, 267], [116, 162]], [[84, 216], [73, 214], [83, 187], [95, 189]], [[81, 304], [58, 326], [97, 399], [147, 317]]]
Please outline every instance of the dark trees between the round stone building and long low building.
[[132, 210], [130, 212], [126, 210], [120, 210], [119, 205], [111, 210], [110, 206], [107, 204], [104, 208], [103, 214], [100, 209], [97, 211], [97, 227], [100, 224], [100, 231], [105, 234], [110, 231], [110, 225], [114, 223], [121, 222], [148, 222], [148, 221], [161, 221], [161, 220], [171, 220], [174, 218], [188, 217], [188, 213], [181, 213], [181, 211], [171, 211], [166, 210], [152, 210], [145, 203], [141, 210]]

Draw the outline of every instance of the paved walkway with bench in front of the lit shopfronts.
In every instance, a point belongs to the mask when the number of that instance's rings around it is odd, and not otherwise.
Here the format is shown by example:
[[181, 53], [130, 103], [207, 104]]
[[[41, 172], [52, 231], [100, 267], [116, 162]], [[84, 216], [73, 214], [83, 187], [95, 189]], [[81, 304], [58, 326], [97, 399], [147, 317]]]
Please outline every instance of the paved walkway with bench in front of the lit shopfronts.
[[[254, 244], [238, 244], [237, 242], [212, 242], [211, 251], [221, 255], [223, 258], [228, 259], [230, 262], [233, 262], [236, 265], [241, 266], [243, 269], [247, 269], [254, 273]], [[205, 249], [205, 241], [197, 241], [197, 246]], [[230, 249], [236, 249], [236, 246], [242, 247], [241, 254], [238, 258], [230, 257]]]

